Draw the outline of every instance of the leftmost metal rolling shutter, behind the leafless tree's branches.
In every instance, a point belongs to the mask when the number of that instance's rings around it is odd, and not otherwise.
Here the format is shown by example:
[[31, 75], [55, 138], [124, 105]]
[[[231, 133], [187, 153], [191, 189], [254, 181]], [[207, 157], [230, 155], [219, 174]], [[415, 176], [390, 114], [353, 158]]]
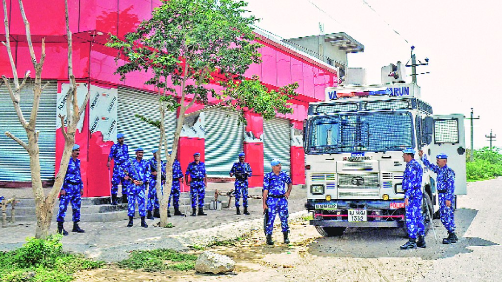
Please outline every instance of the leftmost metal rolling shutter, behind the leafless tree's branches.
[[[21, 110], [27, 120], [30, 119], [33, 105], [32, 88], [33, 85], [27, 84], [21, 93]], [[40, 130], [38, 143], [42, 181], [54, 180], [57, 92], [58, 83], [51, 81], [40, 97], [36, 128]], [[30, 157], [25, 149], [5, 135], [5, 131], [10, 131], [28, 143], [26, 131], [19, 123], [9, 90], [6, 86], [2, 86], [0, 87], [0, 181], [30, 182]]]

